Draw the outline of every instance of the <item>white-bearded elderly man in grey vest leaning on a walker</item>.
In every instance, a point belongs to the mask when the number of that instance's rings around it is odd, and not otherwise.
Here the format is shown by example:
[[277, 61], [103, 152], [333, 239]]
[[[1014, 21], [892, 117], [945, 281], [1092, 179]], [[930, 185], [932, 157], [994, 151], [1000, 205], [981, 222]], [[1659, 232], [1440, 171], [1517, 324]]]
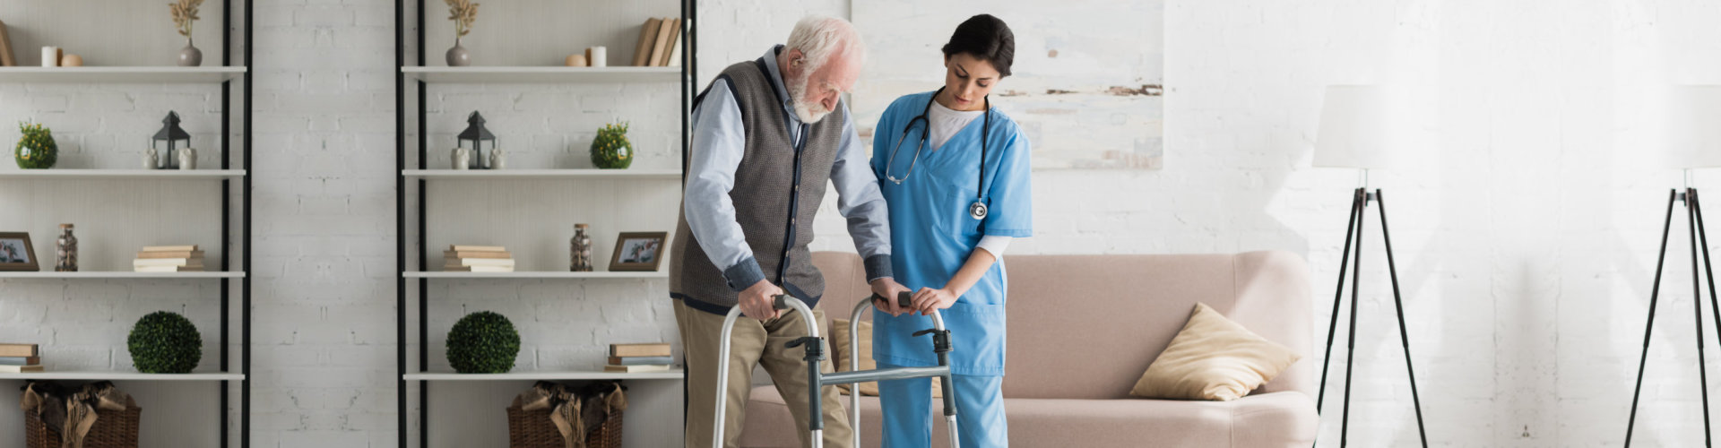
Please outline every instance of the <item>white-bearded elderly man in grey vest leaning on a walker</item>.
[[[873, 291], [907, 291], [890, 272], [890, 222], [878, 179], [842, 93], [854, 88], [866, 52], [854, 26], [805, 17], [786, 45], [723, 69], [694, 105], [687, 191], [676, 226], [669, 296], [687, 350], [687, 446], [712, 441], [716, 395], [728, 395], [725, 446], [735, 446], [747, 415], [754, 365], [764, 365], [792, 403], [807, 438], [807, 364], [783, 343], [807, 334], [807, 317], [771, 308], [788, 293], [817, 307], [824, 277], [812, 265], [812, 217], [826, 183], [838, 193]], [[733, 341], [723, 319], [740, 307]], [[823, 320], [823, 310], [814, 312]], [[728, 384], [718, 383], [721, 345], [731, 345]], [[830, 360], [823, 367], [831, 370]], [[826, 446], [848, 446], [852, 427], [833, 388], [824, 408]]]

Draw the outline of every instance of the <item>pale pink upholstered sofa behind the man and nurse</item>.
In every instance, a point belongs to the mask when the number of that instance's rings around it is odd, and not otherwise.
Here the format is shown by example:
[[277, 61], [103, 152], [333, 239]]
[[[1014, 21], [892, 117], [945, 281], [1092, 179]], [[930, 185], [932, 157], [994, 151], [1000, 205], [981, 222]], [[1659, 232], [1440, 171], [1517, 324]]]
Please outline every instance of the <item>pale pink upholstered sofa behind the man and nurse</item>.
[[[819, 307], [828, 319], [848, 319], [855, 300], [869, 295], [860, 258], [840, 252], [812, 258], [830, 284]], [[1014, 446], [1301, 448], [1315, 441], [1313, 314], [1299, 257], [1007, 255], [1005, 262], [1010, 339], [1003, 396]], [[1131, 398], [1131, 386], [1182, 329], [1196, 302], [1303, 360], [1234, 401]], [[862, 443], [878, 446], [878, 398], [866, 396], [860, 407]], [[936, 436], [943, 431], [938, 419], [933, 446], [947, 446]], [[740, 441], [799, 446], [776, 388], [752, 391]]]

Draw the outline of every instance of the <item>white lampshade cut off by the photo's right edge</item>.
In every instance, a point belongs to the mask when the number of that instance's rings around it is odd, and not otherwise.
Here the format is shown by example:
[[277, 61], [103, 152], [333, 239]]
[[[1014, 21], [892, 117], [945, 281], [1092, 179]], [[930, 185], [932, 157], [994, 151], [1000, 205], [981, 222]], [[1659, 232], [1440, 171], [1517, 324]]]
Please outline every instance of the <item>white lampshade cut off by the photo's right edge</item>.
[[1668, 96], [1662, 164], [1721, 167], [1721, 86], [1676, 86]]

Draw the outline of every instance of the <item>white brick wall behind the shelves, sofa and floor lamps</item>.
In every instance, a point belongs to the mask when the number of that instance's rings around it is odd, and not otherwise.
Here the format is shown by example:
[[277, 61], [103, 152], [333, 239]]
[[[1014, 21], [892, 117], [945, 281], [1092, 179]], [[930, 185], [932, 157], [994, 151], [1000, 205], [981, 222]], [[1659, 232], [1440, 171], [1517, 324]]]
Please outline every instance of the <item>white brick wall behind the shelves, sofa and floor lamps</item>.
[[[256, 7], [253, 445], [394, 446], [392, 3], [258, 0]], [[805, 12], [847, 16], [847, 2], [704, 2], [704, 78], [757, 57]], [[1373, 184], [1391, 196], [1430, 441], [1616, 446], [1662, 200], [1678, 184], [1673, 172], [1640, 162], [1645, 150], [1635, 143], [1645, 138], [1644, 115], [1652, 110], [1640, 93], [1661, 83], [1716, 83], [1721, 31], [1707, 26], [1716, 19], [1721, 5], [1688, 0], [1170, 2], [1167, 169], [1036, 172], [1038, 233], [1012, 253], [1303, 253], [1311, 262], [1320, 343], [1342, 243], [1339, 215], [1354, 186], [1351, 172], [1308, 167], [1320, 88], [1420, 83], [1439, 145], [1411, 155], [1415, 169], [1375, 172]], [[862, 33], [938, 40], [947, 31]], [[55, 124], [64, 164], [122, 167], [134, 164], [127, 148], [141, 141], [131, 128], [151, 126], [160, 117], [155, 109], [213, 122], [207, 117], [219, 93], [0, 86], [0, 122], [64, 117]], [[571, 114], [559, 102], [503, 109], [537, 110], [552, 122]], [[212, 138], [215, 129], [193, 131]], [[511, 162], [577, 159], [578, 152], [556, 155], [558, 145], [578, 141], [544, 141], [542, 155]], [[1714, 188], [1709, 177], [1699, 184]], [[17, 200], [19, 188], [0, 183], [0, 200]], [[817, 246], [850, 248], [830, 207], [824, 217]], [[41, 252], [60, 221], [0, 222], [29, 227]], [[1379, 227], [1370, 226], [1373, 238]], [[1702, 431], [1690, 393], [1697, 381], [1688, 248], [1681, 238], [1669, 248], [1640, 446], [1692, 446]], [[1396, 329], [1387, 324], [1382, 255], [1370, 243], [1351, 441], [1409, 446], [1415, 422]], [[628, 331], [671, 327], [663, 303], [571, 300], [592, 296], [590, 288], [651, 295], [661, 284], [592, 283], [578, 293], [559, 286], [521, 283], [473, 303], [516, 314], [575, 303], [577, 310], [554, 312], [592, 319], [585, 324], [637, 322]], [[515, 295], [542, 300], [515, 302]], [[7, 281], [0, 296], [0, 339], [45, 341], [67, 353], [55, 362], [103, 367], [127, 364], [122, 346], [103, 343], [117, 338], [108, 320], [193, 303], [188, 296], [212, 300], [215, 291], [203, 283]], [[213, 315], [191, 314], [213, 334]], [[72, 334], [79, 327], [95, 333]], [[647, 333], [590, 338], [661, 336]], [[585, 355], [570, 353], [578, 343], [537, 346], [523, 362], [561, 367]], [[1711, 370], [1721, 372], [1712, 358]], [[1337, 415], [1337, 400], [1329, 395], [1329, 415]], [[1335, 420], [1322, 434], [1335, 438]]]

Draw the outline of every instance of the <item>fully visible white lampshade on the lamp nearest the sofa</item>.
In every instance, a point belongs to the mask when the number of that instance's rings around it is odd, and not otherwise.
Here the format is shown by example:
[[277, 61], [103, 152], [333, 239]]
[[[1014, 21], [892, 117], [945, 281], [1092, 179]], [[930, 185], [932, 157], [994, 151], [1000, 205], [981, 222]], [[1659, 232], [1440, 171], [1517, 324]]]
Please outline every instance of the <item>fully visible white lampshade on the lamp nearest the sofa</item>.
[[1384, 86], [1327, 86], [1315, 134], [1317, 167], [1384, 169], [1392, 164], [1396, 117]]

